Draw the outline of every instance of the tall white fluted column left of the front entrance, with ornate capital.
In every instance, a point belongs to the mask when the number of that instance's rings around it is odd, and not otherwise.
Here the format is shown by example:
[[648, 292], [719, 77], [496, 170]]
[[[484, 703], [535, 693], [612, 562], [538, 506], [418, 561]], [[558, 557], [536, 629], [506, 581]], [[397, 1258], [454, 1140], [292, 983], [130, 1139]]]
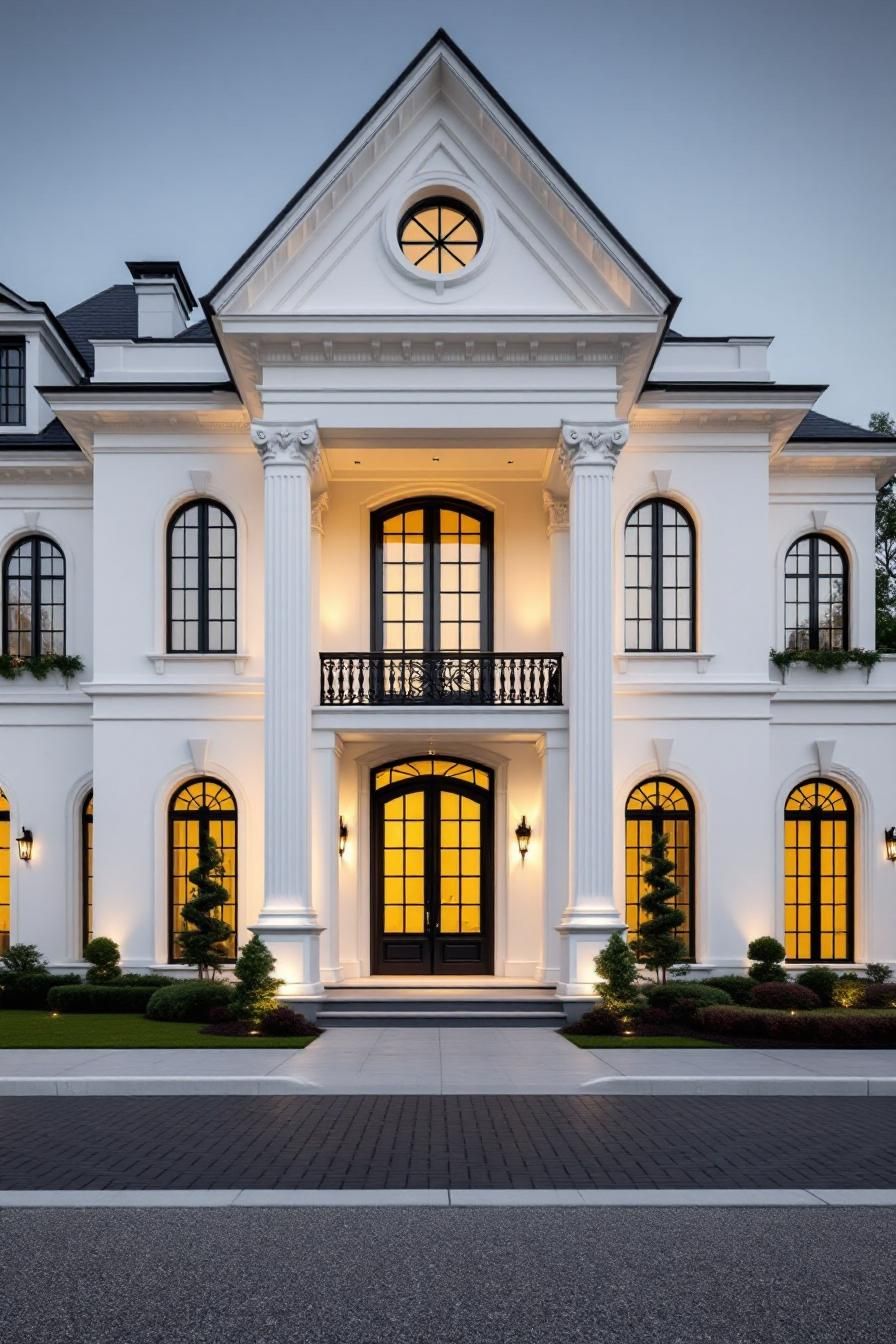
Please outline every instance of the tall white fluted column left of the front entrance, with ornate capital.
[[312, 477], [317, 425], [253, 425], [265, 468], [265, 903], [283, 997], [320, 995], [310, 887]]

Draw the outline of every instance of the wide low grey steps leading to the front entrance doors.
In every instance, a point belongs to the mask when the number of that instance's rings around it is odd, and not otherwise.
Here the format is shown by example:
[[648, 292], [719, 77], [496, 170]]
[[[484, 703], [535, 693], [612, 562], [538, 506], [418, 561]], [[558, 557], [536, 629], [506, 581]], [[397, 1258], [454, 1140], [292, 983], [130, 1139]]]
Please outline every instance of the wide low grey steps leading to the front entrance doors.
[[317, 1025], [333, 1027], [563, 1027], [553, 989], [329, 989]]

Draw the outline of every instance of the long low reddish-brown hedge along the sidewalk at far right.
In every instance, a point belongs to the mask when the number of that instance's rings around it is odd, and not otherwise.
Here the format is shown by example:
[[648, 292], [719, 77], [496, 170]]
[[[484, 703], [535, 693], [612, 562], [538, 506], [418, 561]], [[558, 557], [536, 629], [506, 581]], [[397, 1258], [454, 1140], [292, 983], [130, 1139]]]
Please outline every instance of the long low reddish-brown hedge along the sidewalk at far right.
[[782, 1012], [775, 1008], [701, 1008], [697, 1025], [713, 1036], [797, 1040], [818, 1046], [896, 1046], [896, 1013]]

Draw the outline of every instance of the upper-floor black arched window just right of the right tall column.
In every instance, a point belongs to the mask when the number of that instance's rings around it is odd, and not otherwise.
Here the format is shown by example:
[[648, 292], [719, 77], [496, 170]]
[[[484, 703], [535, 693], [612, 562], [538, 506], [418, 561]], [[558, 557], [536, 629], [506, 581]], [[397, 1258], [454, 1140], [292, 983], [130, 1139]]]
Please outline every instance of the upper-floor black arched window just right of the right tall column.
[[631, 509], [625, 532], [625, 646], [629, 652], [695, 649], [695, 531], [672, 500]]

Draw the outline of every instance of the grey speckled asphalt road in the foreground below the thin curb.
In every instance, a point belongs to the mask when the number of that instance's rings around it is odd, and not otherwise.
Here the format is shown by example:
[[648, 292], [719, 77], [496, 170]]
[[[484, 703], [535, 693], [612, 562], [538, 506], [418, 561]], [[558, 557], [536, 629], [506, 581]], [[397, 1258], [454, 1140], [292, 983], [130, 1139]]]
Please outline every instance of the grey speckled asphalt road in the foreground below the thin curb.
[[3, 1344], [870, 1344], [896, 1210], [7, 1210]]

